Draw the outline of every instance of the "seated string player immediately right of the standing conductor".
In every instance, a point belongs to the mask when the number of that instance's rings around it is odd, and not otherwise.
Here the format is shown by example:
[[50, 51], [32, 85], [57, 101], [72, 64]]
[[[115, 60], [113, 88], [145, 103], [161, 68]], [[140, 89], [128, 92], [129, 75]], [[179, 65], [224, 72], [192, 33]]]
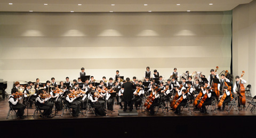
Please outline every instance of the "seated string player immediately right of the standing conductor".
[[[134, 107], [137, 110], [138, 105], [141, 105], [141, 100], [143, 98], [144, 91], [141, 89], [141, 85], [137, 84], [136, 85], [136, 90], [133, 92], [134, 96], [132, 98], [132, 102], [134, 103]], [[133, 104], [132, 103], [132, 104]]]

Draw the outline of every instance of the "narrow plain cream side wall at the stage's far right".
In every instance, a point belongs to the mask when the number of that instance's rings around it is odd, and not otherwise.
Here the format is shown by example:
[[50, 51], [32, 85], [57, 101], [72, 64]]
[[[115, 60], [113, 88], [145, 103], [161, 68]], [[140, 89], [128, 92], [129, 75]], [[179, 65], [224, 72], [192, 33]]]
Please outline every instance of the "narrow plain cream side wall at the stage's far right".
[[[239, 5], [233, 10], [233, 74], [241, 75], [256, 92], [256, 1]], [[246, 84], [246, 85], [247, 85]], [[245, 86], [246, 86], [245, 85]]]

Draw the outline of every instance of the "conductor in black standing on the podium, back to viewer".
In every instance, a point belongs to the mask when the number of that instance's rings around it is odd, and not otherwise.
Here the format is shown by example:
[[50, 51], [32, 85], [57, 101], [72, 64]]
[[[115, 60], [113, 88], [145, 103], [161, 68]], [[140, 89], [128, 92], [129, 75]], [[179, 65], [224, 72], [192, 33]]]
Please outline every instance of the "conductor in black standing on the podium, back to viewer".
[[127, 110], [127, 104], [130, 107], [130, 111], [132, 111], [132, 97], [133, 97], [133, 91], [132, 89], [135, 89], [133, 83], [130, 82], [130, 78], [126, 77], [126, 82], [123, 84], [124, 86], [124, 111]]

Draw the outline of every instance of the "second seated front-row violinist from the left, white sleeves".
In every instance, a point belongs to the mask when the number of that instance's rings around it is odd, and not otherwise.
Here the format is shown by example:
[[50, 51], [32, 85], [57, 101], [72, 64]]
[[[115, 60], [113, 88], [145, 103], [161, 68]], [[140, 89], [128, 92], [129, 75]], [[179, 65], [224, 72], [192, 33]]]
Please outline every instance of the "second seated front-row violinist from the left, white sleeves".
[[[43, 90], [39, 90], [38, 92], [38, 97], [36, 98], [36, 103], [39, 109], [44, 110], [44, 112], [42, 113], [43, 116], [46, 117], [51, 117], [51, 109], [52, 107], [50, 107], [49, 105], [46, 104], [46, 101], [49, 100], [49, 98], [42, 98], [44, 91]], [[40, 117], [43, 117], [42, 115], [40, 115]]]

